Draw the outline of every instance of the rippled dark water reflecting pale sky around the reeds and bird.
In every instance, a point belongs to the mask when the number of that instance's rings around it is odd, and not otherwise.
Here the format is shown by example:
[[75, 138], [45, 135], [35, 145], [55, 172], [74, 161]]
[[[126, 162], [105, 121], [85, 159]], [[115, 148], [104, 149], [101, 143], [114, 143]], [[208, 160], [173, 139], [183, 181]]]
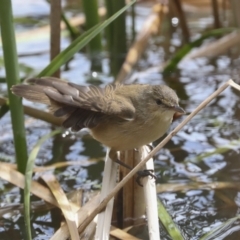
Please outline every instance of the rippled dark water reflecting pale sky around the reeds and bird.
[[[37, 14], [36, 17], [44, 19], [48, 10], [40, 1], [37, 3], [41, 6], [38, 10], [30, 4], [29, 12], [26, 8], [26, 12], [17, 11], [16, 15], [32, 15], [32, 11], [37, 11], [37, 13], [34, 12]], [[17, 4], [17, 1], [14, 4]], [[150, 8], [138, 10], [137, 28], [140, 28]], [[198, 28], [207, 26], [208, 21], [204, 20], [206, 20], [205, 16], [198, 19]], [[19, 32], [24, 30], [24, 26], [18, 27], [17, 30]], [[136, 82], [171, 86], [181, 99], [180, 105], [190, 113], [228, 79], [232, 78], [237, 83], [240, 82], [239, 49], [233, 49], [226, 55], [213, 59], [199, 58], [185, 62], [170, 77], [164, 78], [154, 70], [147, 74], [141, 73], [168, 59], [171, 55], [169, 49], [178, 47], [179, 37], [180, 33], [175, 32], [170, 45], [166, 44], [169, 40], [164, 37], [151, 39], [146, 53], [136, 68]], [[68, 42], [68, 39], [64, 38], [62, 47], [64, 48]], [[48, 39], [43, 37], [31, 43], [20, 42], [18, 50], [19, 53], [44, 52], [48, 50]], [[62, 77], [80, 84], [90, 78], [97, 79], [102, 85], [109, 83], [113, 77], [109, 72], [107, 53], [103, 54], [101, 61], [103, 71], [93, 73], [90, 71], [89, 57], [76, 54], [69, 64], [69, 71], [64, 71]], [[40, 56], [20, 57], [20, 62], [32, 67], [37, 73], [48, 63], [48, 55], [43, 53]], [[3, 75], [2, 71], [0, 73]], [[4, 91], [5, 86], [1, 84], [0, 92]], [[43, 108], [39, 105], [37, 107]], [[171, 129], [182, 119], [175, 121]], [[238, 183], [240, 180], [239, 121], [240, 93], [233, 88], [228, 88], [195, 116], [156, 156], [157, 183], [185, 183], [186, 185], [212, 182]], [[36, 141], [47, 134], [52, 127], [30, 117], [25, 117], [25, 122], [28, 148], [31, 150]], [[219, 149], [224, 146], [228, 146], [228, 149], [219, 152]], [[199, 157], [203, 153], [212, 151], [216, 153]], [[7, 114], [0, 119], [0, 159], [13, 163], [13, 156], [10, 116]], [[77, 134], [65, 132], [61, 136], [46, 141], [38, 154], [36, 165], [44, 166], [58, 161], [79, 161], [81, 163], [79, 166], [69, 166], [53, 171], [64, 191], [70, 192], [74, 189], [92, 189], [99, 186], [104, 156], [105, 147], [93, 140], [86, 132]], [[239, 214], [240, 192], [237, 188], [220, 190], [201, 188], [188, 190], [186, 188], [182, 191], [159, 193], [159, 198], [185, 239], [200, 239], [205, 233]], [[19, 200], [19, 190], [5, 181], [0, 181], [1, 206], [19, 203]], [[55, 217], [57, 213], [33, 214], [34, 239], [49, 239], [52, 236], [57, 228], [52, 222], [52, 218]], [[10, 239], [10, 237], [24, 239], [23, 227], [23, 219], [18, 212], [5, 215], [0, 219], [0, 239]], [[171, 239], [162, 226], [161, 236], [162, 239]], [[224, 231], [220, 231], [210, 239], [239, 239], [239, 220], [231, 222]]]

